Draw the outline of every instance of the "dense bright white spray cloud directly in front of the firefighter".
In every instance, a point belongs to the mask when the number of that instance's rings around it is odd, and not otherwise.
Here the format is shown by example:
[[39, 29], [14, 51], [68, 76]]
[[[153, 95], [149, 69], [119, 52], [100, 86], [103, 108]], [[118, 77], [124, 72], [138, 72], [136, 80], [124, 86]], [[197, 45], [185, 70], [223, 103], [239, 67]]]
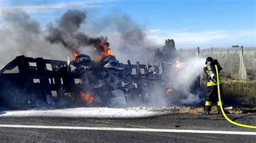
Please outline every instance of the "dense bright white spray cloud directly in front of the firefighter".
[[[174, 92], [171, 101], [173, 104], [196, 105], [202, 101], [199, 94], [192, 94], [190, 89], [198, 84], [198, 80], [203, 73], [205, 59], [194, 57], [180, 61], [182, 67], [170, 77]], [[179, 65], [179, 66], [180, 66]], [[174, 78], [174, 79], [173, 79]], [[200, 81], [200, 80], [199, 80]]]

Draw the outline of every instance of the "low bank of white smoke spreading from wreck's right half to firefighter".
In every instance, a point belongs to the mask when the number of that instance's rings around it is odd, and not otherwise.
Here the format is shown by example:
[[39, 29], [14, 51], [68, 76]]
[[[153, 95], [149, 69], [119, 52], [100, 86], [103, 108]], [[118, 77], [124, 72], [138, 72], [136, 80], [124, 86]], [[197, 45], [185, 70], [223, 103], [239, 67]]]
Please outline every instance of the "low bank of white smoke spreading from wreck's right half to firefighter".
[[[169, 77], [165, 82], [170, 82], [172, 88], [171, 94], [166, 94], [164, 83], [155, 83], [149, 90], [149, 96], [144, 100], [133, 99], [129, 106], [197, 106], [203, 99], [200, 97], [199, 83], [200, 75], [203, 73], [205, 59], [194, 57], [180, 61], [179, 70], [177, 72], [170, 71]], [[172, 66], [172, 65], [171, 65]], [[171, 67], [172, 70], [172, 67]], [[196, 86], [198, 92], [192, 92], [190, 89]], [[143, 97], [142, 97], [143, 98]]]

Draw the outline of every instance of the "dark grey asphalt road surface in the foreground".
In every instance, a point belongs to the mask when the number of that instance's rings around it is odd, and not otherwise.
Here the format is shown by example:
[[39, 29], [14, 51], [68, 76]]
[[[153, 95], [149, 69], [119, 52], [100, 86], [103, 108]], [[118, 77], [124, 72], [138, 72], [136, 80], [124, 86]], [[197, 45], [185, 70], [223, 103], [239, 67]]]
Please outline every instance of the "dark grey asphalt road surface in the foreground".
[[[239, 123], [256, 125], [255, 114], [228, 116]], [[234, 126], [221, 115], [176, 113], [138, 119], [0, 117], [0, 125], [256, 132], [252, 129]], [[256, 135], [1, 127], [0, 139], [1, 142], [256, 142]]]

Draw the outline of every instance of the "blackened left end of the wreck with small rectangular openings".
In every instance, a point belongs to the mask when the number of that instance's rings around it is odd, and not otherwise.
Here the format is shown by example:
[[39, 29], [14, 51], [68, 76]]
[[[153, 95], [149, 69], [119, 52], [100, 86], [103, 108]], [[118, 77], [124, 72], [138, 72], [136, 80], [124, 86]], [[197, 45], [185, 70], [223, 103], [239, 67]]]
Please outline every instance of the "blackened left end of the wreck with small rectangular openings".
[[[18, 73], [7, 72], [15, 67], [18, 67]], [[8, 63], [0, 73], [0, 105], [12, 108], [53, 105], [52, 91], [57, 92], [55, 101], [59, 101], [64, 95], [63, 90], [73, 93], [74, 79], [79, 78], [67, 71], [65, 61], [33, 59], [23, 55]]]

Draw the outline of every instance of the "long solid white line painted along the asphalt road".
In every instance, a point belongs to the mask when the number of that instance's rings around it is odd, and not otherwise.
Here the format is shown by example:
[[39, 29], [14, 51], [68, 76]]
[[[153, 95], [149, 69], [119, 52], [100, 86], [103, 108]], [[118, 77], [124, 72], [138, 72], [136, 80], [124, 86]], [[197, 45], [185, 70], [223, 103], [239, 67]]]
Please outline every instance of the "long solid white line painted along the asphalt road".
[[210, 133], [210, 134], [241, 134], [256, 135], [256, 132], [238, 131], [205, 131], [205, 130], [172, 130], [157, 128], [118, 128], [118, 127], [76, 127], [76, 126], [36, 126], [36, 125], [0, 125], [0, 127], [11, 128], [46, 128], [64, 130], [104, 130], [104, 131], [134, 131], [134, 132], [169, 132], [169, 133]]

